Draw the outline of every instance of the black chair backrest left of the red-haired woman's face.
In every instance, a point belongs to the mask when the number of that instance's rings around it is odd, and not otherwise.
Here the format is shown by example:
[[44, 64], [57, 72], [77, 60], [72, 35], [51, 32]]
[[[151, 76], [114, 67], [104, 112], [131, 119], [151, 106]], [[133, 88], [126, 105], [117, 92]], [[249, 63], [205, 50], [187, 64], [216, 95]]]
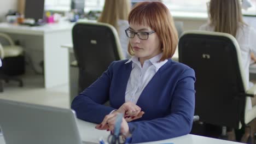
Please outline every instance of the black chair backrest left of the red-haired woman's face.
[[117, 30], [107, 23], [78, 22], [72, 37], [79, 67], [79, 92], [100, 77], [111, 62], [124, 59]]

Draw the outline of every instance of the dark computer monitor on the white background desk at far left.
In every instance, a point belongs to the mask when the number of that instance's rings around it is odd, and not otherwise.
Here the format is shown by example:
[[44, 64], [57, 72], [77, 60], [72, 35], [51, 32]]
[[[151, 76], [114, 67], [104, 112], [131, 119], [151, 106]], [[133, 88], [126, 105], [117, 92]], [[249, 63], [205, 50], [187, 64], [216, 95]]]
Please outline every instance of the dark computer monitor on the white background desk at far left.
[[44, 0], [26, 0], [25, 3], [25, 18], [34, 19], [39, 23], [44, 17]]

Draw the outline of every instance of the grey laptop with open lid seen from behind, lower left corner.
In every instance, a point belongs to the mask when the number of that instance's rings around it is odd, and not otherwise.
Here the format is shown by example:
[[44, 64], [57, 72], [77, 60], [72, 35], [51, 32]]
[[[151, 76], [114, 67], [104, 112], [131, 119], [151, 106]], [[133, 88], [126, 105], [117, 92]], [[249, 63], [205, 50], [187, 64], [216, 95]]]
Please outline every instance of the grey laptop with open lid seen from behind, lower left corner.
[[82, 144], [75, 112], [0, 99], [0, 128], [5, 144]]

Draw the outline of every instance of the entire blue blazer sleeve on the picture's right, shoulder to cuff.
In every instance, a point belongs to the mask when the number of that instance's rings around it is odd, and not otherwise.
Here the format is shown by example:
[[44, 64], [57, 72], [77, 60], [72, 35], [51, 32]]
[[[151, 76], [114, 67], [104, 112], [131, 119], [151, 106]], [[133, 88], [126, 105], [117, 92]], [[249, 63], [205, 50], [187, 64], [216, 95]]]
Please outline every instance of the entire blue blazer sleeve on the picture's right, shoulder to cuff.
[[150, 121], [128, 123], [132, 131], [131, 142], [158, 141], [189, 134], [195, 109], [194, 83], [194, 70], [184, 70], [174, 88], [170, 114]]

